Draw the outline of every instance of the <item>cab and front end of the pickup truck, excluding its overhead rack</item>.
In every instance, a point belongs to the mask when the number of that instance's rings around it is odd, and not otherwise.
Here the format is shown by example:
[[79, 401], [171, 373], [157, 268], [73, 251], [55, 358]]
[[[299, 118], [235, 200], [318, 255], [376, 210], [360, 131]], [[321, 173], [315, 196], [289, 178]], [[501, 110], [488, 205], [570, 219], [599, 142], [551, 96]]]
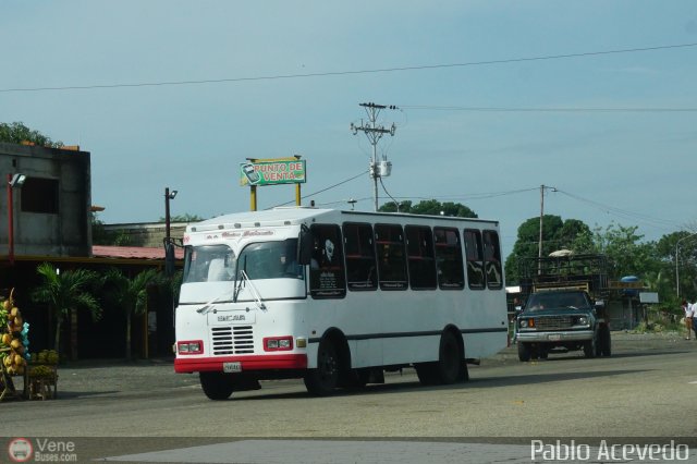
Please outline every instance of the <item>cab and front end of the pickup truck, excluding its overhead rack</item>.
[[610, 330], [602, 302], [584, 290], [531, 293], [515, 320], [518, 359], [547, 358], [549, 353], [583, 350], [586, 357], [610, 356]]

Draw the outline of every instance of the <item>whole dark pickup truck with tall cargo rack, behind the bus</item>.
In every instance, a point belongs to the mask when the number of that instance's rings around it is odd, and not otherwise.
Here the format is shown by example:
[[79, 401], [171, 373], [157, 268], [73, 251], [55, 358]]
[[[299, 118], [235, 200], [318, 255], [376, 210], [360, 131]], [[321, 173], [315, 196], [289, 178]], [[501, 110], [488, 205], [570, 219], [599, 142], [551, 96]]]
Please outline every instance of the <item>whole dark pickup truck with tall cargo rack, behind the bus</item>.
[[518, 358], [578, 350], [586, 357], [610, 356], [604, 255], [557, 253], [524, 265], [521, 286], [527, 301], [515, 319]]

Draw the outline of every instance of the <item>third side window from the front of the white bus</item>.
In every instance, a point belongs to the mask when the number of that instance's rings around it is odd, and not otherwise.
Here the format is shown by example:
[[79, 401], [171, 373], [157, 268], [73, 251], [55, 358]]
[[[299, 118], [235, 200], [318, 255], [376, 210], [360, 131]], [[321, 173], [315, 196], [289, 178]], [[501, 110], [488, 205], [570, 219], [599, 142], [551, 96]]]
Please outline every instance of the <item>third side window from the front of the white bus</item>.
[[402, 225], [376, 224], [375, 243], [380, 290], [406, 290], [408, 284]]

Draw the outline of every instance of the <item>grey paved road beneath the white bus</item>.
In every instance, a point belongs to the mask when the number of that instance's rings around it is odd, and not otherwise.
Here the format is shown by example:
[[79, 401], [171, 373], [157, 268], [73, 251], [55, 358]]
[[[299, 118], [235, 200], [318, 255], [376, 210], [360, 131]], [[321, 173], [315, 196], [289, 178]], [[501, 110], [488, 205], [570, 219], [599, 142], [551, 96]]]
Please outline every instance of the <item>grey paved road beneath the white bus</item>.
[[0, 404], [0, 435], [69, 437], [83, 455], [129, 462], [528, 462], [533, 439], [693, 443], [697, 341], [613, 342], [612, 358], [518, 363], [508, 349], [464, 384], [424, 388], [405, 369], [322, 399], [285, 380], [210, 402], [170, 363], [73, 365], [59, 371], [58, 400]]

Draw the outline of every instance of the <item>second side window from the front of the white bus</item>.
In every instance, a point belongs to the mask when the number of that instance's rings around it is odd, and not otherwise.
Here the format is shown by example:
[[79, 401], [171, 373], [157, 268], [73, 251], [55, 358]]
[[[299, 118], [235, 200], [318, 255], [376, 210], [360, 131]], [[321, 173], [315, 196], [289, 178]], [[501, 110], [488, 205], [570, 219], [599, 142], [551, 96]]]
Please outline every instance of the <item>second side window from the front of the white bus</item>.
[[348, 290], [376, 290], [378, 272], [372, 228], [366, 223], [347, 222], [343, 225], [343, 232]]

